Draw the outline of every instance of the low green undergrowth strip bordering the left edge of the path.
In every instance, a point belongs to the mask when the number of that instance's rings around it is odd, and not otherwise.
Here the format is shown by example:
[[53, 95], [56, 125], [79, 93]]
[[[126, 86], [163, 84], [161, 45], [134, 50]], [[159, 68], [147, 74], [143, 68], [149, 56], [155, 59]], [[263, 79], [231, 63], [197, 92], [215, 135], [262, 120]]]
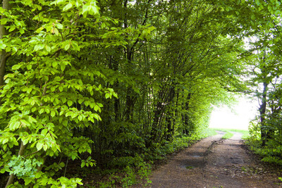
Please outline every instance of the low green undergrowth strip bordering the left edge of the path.
[[149, 175], [154, 162], [215, 134], [217, 134], [216, 131], [210, 129], [194, 132], [191, 136], [178, 134], [172, 142], [165, 141], [159, 146], [154, 146], [152, 150], [148, 149], [142, 155], [115, 158], [111, 165], [116, 164], [118, 168], [108, 170], [109, 173], [99, 171], [106, 174], [103, 180], [92, 185], [88, 184], [87, 187], [130, 187], [139, 183], [145, 187], [149, 186], [151, 183]]

